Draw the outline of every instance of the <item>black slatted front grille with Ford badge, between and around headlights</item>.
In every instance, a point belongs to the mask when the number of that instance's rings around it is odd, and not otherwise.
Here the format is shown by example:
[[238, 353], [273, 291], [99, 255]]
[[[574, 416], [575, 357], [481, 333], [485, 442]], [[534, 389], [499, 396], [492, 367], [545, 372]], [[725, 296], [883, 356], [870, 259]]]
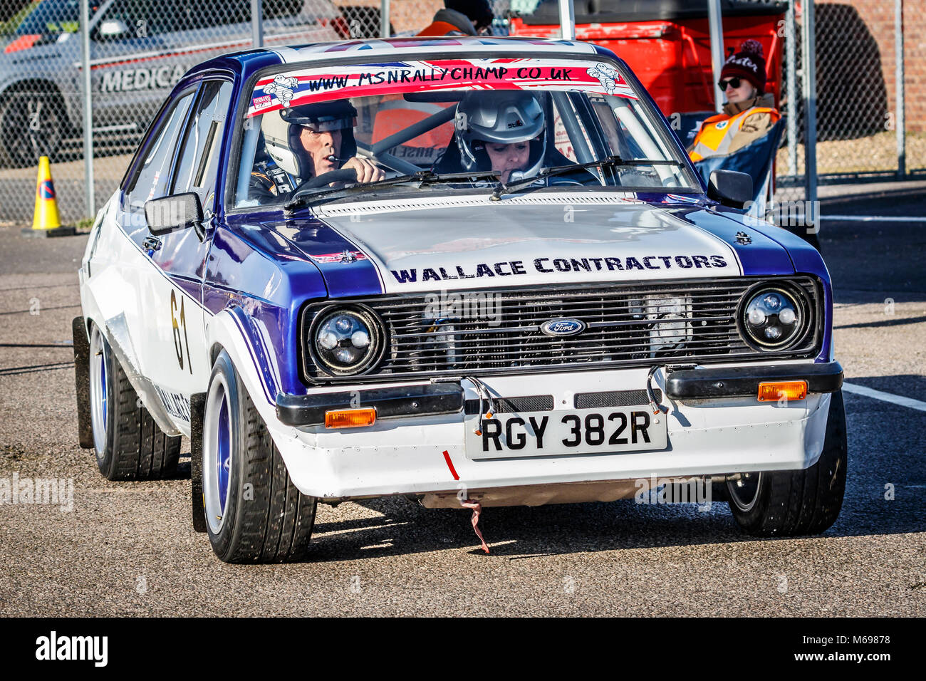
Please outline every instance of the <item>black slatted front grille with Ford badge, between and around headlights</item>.
[[[745, 291], [770, 281], [790, 282], [805, 291], [815, 317], [799, 346], [778, 353], [748, 347], [735, 320]], [[451, 293], [457, 297], [434, 293], [344, 300], [375, 310], [385, 326], [382, 360], [362, 380], [803, 358], [815, 356], [820, 344], [820, 289], [809, 277]], [[314, 314], [332, 302], [307, 307], [302, 328], [309, 328]], [[540, 325], [556, 318], [580, 320], [586, 328], [561, 337], [541, 333]], [[313, 383], [358, 378], [320, 373], [310, 359], [304, 367]]]

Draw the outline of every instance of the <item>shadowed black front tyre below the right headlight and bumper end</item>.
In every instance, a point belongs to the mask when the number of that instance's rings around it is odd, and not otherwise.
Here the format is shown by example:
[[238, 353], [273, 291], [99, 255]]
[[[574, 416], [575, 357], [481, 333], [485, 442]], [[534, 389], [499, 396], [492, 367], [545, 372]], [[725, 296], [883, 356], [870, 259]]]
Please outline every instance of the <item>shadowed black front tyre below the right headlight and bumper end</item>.
[[816, 535], [836, 522], [845, 495], [845, 406], [830, 398], [820, 459], [802, 471], [746, 473], [728, 481], [730, 509], [749, 535]]

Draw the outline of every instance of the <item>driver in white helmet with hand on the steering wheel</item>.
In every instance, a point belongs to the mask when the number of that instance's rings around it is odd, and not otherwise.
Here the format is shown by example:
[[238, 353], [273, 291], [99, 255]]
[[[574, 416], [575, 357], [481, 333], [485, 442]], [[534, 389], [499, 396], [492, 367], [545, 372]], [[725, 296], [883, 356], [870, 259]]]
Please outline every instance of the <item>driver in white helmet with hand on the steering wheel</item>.
[[382, 170], [357, 157], [356, 125], [357, 109], [346, 99], [265, 113], [260, 130], [269, 158], [251, 173], [251, 197], [286, 195], [332, 170], [356, 170], [357, 183], [382, 180]]

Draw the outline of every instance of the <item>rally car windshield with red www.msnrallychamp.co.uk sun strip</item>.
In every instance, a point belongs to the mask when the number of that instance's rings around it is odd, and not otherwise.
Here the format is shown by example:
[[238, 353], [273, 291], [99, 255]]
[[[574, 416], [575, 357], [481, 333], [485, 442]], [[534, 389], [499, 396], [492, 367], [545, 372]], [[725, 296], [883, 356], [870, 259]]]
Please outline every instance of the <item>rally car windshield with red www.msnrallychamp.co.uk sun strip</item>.
[[291, 69], [258, 78], [241, 134], [235, 208], [292, 208], [294, 195], [339, 197], [333, 189], [357, 183], [355, 197], [364, 187], [700, 191], [665, 122], [606, 61]]

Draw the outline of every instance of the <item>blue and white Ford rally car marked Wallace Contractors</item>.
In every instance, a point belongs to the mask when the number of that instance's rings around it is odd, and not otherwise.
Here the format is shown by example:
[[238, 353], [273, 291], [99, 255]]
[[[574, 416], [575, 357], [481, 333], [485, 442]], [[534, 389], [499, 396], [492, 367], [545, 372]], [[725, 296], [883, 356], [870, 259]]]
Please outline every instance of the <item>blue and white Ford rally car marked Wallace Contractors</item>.
[[693, 478], [750, 534], [819, 533], [845, 489], [830, 277], [746, 215], [750, 184], [705, 186], [591, 44], [212, 59], [90, 234], [81, 446], [156, 478], [189, 435], [223, 561], [305, 558], [319, 501], [478, 512]]

